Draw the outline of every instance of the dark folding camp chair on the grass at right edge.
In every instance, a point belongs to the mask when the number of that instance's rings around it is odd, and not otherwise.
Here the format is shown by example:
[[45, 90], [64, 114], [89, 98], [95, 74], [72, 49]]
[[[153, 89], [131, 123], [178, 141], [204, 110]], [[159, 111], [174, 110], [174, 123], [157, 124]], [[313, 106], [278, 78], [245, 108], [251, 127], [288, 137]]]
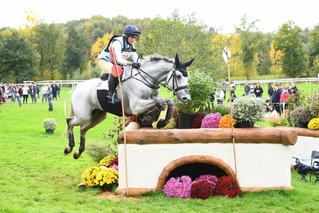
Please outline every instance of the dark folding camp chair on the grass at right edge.
[[[305, 182], [308, 182], [307, 179], [306, 179], [306, 176], [310, 173], [310, 179], [309, 181], [311, 182], [311, 174], [313, 173], [316, 177], [315, 179], [315, 183], [319, 181], [319, 175], [317, 175], [317, 173], [319, 173], [319, 162], [318, 161], [314, 161], [315, 159], [318, 159], [319, 160], [319, 152], [318, 151], [315, 151], [313, 150], [311, 152], [311, 159], [299, 159], [297, 157], [293, 157], [294, 159], [296, 159], [296, 165], [293, 166], [294, 169], [299, 169], [300, 172], [298, 171], [299, 174], [301, 174], [301, 178], [299, 180], [299, 182], [301, 180], [304, 180]], [[311, 166], [308, 166], [308, 165], [304, 165], [302, 163], [300, 163], [300, 161], [311, 161]], [[314, 162], [312, 162], [314, 161]], [[316, 163], [316, 166], [317, 168], [315, 167], [315, 163]], [[302, 171], [301, 171], [302, 170]]]

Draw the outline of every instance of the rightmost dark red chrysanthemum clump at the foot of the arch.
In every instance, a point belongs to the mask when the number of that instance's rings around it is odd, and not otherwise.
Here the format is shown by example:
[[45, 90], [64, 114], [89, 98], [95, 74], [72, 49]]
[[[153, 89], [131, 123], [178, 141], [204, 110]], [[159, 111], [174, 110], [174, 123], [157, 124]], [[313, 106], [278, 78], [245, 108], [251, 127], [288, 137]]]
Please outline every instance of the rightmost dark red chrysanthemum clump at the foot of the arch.
[[227, 196], [230, 198], [241, 196], [240, 187], [237, 182], [229, 176], [220, 177], [214, 190], [215, 195]]

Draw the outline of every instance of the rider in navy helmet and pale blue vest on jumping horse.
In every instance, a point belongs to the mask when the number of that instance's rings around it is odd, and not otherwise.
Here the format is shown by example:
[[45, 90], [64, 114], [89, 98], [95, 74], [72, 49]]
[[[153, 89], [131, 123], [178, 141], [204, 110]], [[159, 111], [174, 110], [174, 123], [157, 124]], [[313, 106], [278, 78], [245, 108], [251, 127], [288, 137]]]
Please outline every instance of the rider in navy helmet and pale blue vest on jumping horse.
[[135, 39], [137, 36], [141, 34], [137, 27], [134, 25], [129, 25], [124, 29], [123, 36], [114, 35], [108, 47], [106, 47], [101, 54], [99, 55], [99, 66], [102, 69], [102, 74], [100, 75], [100, 79], [106, 80], [105, 78], [109, 75], [108, 82], [108, 102], [112, 102], [112, 98], [114, 102], [120, 102], [121, 99], [113, 96], [116, 87], [117, 77], [115, 77], [112, 72], [113, 61], [110, 57], [109, 47], [114, 48], [114, 53], [116, 57], [116, 63], [124, 66], [132, 66], [134, 68], [140, 67], [140, 63], [130, 62], [126, 59], [132, 57], [133, 61], [137, 61], [138, 56], [136, 53], [136, 48], [134, 46]]

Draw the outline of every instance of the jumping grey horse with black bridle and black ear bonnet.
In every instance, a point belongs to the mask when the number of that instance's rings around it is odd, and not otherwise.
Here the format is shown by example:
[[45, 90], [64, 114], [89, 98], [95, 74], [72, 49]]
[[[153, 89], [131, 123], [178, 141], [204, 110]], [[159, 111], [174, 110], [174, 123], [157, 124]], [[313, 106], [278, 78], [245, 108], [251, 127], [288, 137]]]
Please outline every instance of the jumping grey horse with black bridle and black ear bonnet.
[[[159, 114], [163, 105], [167, 105], [165, 120], [161, 119], [157, 126], [166, 126], [172, 119], [173, 101], [171, 99], [158, 98], [160, 82], [167, 80], [167, 85], [173, 89], [177, 101], [187, 103], [190, 100], [188, 87], [188, 67], [194, 59], [188, 62], [181, 62], [178, 54], [175, 59], [169, 59], [155, 54], [146, 56], [141, 61], [140, 70], [126, 67], [126, 80], [122, 83], [122, 93], [124, 102], [124, 112], [126, 115], [140, 114], [145, 111], [154, 114], [147, 116], [143, 124], [150, 124], [159, 119]], [[143, 72], [142, 72], [143, 71]], [[138, 74], [140, 72], [140, 74]], [[80, 146], [73, 154], [74, 159], [78, 159], [85, 150], [85, 134], [97, 124], [106, 119], [107, 113], [103, 111], [99, 104], [97, 91], [94, 85], [99, 79], [91, 79], [79, 83], [72, 89], [70, 100], [70, 113], [66, 119], [68, 124], [67, 137], [69, 146], [64, 149], [64, 154], [72, 152], [74, 143], [73, 127], [80, 126]], [[119, 88], [116, 90], [118, 98], [121, 98]]]

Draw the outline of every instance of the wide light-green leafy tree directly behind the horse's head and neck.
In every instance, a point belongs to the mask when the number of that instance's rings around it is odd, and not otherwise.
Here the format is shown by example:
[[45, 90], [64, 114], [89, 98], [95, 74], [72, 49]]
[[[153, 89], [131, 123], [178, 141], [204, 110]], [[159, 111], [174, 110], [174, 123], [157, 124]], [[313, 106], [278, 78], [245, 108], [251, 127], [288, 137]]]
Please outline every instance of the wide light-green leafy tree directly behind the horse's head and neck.
[[185, 18], [175, 10], [167, 19], [157, 17], [152, 23], [153, 26], [140, 35], [138, 52], [144, 55], [158, 53], [169, 58], [178, 53], [183, 61], [194, 57], [191, 68], [205, 67], [207, 74], [215, 80], [226, 76], [226, 67], [220, 65], [225, 64], [222, 52], [230, 38], [214, 42], [217, 32], [208, 31], [207, 25], [196, 20], [195, 13]]

